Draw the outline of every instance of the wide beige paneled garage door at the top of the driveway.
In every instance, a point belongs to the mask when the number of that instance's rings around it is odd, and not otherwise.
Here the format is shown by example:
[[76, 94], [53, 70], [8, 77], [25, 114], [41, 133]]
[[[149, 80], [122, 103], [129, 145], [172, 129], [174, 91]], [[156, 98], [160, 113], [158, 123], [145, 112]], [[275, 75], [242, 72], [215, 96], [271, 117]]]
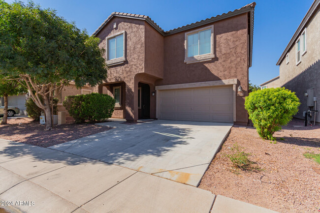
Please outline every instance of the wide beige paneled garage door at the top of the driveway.
[[162, 90], [158, 118], [198, 122], [233, 122], [232, 86]]

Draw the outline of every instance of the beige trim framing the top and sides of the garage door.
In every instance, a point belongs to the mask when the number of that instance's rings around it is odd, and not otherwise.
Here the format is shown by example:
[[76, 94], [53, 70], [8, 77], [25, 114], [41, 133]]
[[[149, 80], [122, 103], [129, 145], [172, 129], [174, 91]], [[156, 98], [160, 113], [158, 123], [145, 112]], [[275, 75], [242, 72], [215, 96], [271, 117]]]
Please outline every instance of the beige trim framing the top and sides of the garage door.
[[[236, 121], [236, 84], [237, 79], [229, 79], [229, 80], [221, 80], [221, 81], [210, 81], [210, 82], [197, 82], [197, 83], [188, 83], [188, 84], [175, 84], [175, 85], [163, 85], [163, 86], [156, 86], [157, 91], [157, 109], [156, 115], [157, 118], [160, 118], [160, 98], [161, 98], [161, 91], [166, 90], [178, 90], [178, 89], [198, 89], [198, 88], [215, 88], [215, 86], [231, 86], [232, 85], [232, 99], [233, 99], [233, 122]], [[220, 88], [220, 87], [217, 87]], [[231, 120], [232, 121], [232, 120]]]

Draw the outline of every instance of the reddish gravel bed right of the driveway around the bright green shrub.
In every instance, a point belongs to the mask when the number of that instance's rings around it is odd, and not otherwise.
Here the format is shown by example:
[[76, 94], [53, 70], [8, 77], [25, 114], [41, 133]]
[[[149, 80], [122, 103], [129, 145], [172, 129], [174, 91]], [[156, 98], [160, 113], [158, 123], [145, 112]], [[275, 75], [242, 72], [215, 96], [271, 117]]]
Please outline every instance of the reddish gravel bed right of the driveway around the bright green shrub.
[[[232, 127], [199, 187], [281, 213], [318, 212], [320, 164], [303, 154], [320, 153], [320, 126], [293, 120], [274, 136], [277, 143], [259, 138], [253, 127]], [[234, 146], [249, 153], [254, 169], [233, 166]]]

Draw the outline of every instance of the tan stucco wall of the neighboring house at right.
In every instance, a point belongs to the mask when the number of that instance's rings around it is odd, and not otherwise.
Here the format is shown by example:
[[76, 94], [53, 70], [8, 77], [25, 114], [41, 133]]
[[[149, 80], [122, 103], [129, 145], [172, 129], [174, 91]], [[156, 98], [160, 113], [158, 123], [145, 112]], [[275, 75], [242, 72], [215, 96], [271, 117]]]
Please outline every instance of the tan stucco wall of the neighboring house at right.
[[[294, 91], [300, 99], [301, 105], [295, 118], [304, 119], [303, 111], [307, 111], [307, 97], [304, 95], [308, 89], [314, 88], [314, 96], [318, 98], [317, 110], [320, 109], [320, 7], [310, 18], [306, 25], [307, 52], [301, 57], [301, 63], [296, 65], [295, 42], [289, 49], [289, 63], [286, 58], [280, 63], [280, 86]], [[304, 29], [303, 29], [304, 30]], [[312, 107], [314, 109], [314, 107]], [[320, 122], [320, 114], [317, 114]], [[320, 123], [318, 123], [320, 124]]]

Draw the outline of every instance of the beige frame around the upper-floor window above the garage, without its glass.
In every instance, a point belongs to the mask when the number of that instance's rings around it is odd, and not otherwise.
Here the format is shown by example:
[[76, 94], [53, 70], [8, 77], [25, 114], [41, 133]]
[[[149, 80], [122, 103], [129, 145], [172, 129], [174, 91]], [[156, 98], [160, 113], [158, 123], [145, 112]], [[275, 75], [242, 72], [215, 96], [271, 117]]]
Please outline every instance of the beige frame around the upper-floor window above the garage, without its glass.
[[[197, 56], [192, 56], [192, 57], [188, 57], [188, 35], [197, 33], [199, 31], [203, 31], [203, 30], [208, 30], [211, 29], [211, 52], [207, 53], [207, 54], [203, 54], [203, 55], [197, 55]], [[215, 58], [214, 53], [214, 43], [213, 43], [213, 25], [208, 26], [208, 27], [204, 27], [204, 28], [200, 28], [197, 30], [192, 30], [192, 31], [188, 31], [185, 32], [185, 63], [196, 63], [196, 62], [201, 62], [201, 61], [210, 61], [213, 58]]]

